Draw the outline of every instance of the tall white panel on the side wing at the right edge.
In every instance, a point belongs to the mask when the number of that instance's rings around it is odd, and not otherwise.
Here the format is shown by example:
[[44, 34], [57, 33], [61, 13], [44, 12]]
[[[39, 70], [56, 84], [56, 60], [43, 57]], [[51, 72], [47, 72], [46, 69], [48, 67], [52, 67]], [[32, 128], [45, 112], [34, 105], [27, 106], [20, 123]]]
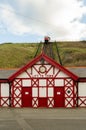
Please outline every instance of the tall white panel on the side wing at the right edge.
[[78, 84], [78, 95], [86, 96], [86, 83], [85, 82]]

